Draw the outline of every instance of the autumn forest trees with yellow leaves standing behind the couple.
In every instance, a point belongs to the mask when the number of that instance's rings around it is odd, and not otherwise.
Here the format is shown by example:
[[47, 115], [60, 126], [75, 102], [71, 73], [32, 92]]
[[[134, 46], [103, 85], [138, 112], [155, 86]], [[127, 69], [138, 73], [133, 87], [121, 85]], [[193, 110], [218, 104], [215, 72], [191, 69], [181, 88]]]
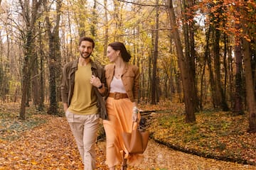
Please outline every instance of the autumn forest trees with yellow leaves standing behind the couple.
[[141, 73], [139, 102], [184, 103], [186, 123], [204, 108], [248, 115], [256, 132], [255, 1], [0, 1], [0, 96], [48, 114], [59, 105], [61, 70], [78, 57], [78, 40], [96, 42], [92, 59], [108, 63], [121, 41]]

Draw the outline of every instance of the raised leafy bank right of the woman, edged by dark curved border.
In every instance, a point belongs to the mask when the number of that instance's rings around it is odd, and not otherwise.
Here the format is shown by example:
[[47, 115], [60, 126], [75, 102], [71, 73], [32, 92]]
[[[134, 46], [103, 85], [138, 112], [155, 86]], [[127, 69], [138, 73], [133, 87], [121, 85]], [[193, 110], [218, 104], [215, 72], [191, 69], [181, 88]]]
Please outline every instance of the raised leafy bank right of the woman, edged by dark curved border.
[[256, 134], [247, 132], [248, 115], [209, 109], [196, 113], [196, 123], [185, 123], [182, 104], [142, 108], [156, 111], [148, 118], [148, 129], [157, 142], [202, 157], [256, 165]]

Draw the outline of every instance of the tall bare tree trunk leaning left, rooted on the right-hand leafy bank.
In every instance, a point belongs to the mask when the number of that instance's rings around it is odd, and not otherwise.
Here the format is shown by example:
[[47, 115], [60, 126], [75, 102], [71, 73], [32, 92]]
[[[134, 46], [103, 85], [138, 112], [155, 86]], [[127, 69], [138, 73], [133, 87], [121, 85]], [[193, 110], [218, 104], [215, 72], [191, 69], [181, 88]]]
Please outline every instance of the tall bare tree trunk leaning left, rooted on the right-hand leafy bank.
[[174, 40], [176, 43], [176, 50], [178, 55], [178, 66], [181, 69], [181, 79], [183, 84], [183, 93], [184, 93], [184, 103], [185, 103], [185, 111], [186, 111], [186, 122], [187, 123], [193, 123], [196, 121], [196, 115], [194, 112], [194, 106], [193, 106], [193, 96], [191, 96], [191, 86], [188, 82], [188, 70], [186, 68], [186, 59], [183, 56], [183, 50], [181, 45], [181, 39], [178, 34], [178, 26], [176, 24], [176, 16], [174, 13], [174, 7], [171, 0], [167, 0], [168, 4], [168, 12], [170, 16], [170, 23], [171, 28], [174, 33]]

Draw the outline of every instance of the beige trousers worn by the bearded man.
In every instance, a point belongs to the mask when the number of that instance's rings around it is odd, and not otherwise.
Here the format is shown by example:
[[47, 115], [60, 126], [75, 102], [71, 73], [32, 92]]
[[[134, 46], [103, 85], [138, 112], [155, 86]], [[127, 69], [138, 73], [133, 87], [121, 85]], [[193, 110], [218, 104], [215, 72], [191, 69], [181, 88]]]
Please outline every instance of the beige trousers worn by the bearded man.
[[95, 142], [99, 127], [99, 114], [77, 115], [66, 111], [65, 115], [78, 145], [85, 170], [96, 169]]

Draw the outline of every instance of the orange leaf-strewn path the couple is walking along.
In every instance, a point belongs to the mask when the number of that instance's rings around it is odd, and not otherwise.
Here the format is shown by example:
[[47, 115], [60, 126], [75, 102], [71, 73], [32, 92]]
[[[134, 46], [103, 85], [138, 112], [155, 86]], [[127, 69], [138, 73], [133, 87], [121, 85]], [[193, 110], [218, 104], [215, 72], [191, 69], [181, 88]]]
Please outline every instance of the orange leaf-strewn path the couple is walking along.
[[[0, 141], [0, 170], [83, 169], [65, 118], [46, 118], [49, 120], [46, 125], [23, 132], [18, 140]], [[140, 166], [129, 169], [256, 169], [256, 166], [221, 162], [177, 152], [153, 140], [149, 141], [144, 156], [144, 162]], [[97, 169], [107, 169], [105, 141], [97, 142]]]

